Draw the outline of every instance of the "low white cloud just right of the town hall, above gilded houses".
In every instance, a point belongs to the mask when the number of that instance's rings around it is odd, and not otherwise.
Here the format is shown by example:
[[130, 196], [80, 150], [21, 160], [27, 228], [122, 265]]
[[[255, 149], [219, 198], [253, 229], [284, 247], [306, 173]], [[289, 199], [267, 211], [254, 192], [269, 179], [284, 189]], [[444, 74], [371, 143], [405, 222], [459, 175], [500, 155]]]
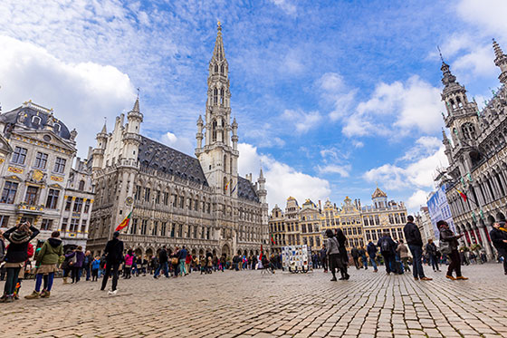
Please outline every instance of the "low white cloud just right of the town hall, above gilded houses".
[[330, 183], [326, 179], [302, 173], [270, 156], [260, 154], [251, 144], [239, 143], [238, 150], [240, 152], [238, 171], [243, 177], [248, 173], [253, 173], [254, 177], [257, 177], [262, 161], [270, 209], [275, 204], [284, 208], [289, 196], [298, 201], [305, 198], [318, 200], [330, 196]]

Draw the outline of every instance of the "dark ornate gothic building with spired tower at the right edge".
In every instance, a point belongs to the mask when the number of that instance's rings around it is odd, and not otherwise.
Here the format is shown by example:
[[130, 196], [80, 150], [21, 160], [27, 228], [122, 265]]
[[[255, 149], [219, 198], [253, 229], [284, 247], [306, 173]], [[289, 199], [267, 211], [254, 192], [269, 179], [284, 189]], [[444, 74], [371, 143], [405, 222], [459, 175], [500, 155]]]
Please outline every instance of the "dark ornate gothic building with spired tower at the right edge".
[[[481, 244], [488, 256], [493, 255], [489, 231], [493, 222], [505, 220], [507, 204], [507, 56], [493, 40], [494, 63], [500, 68], [501, 88], [479, 111], [469, 101], [466, 89], [442, 62], [446, 114], [445, 127], [451, 130], [449, 140], [443, 130], [445, 155], [449, 167], [439, 175], [454, 225], [463, 233], [464, 244]], [[466, 201], [458, 191], [464, 192]]]

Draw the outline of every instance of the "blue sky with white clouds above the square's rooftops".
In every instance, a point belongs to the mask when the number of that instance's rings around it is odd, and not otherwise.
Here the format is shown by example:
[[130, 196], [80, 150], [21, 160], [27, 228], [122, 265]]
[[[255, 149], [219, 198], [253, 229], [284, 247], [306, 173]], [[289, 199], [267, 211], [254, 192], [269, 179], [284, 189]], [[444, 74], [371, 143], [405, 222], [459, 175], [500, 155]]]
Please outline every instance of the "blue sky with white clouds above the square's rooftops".
[[499, 86], [492, 38], [507, 52], [504, 0], [3, 0], [0, 13], [2, 110], [53, 108], [81, 156], [137, 88], [142, 132], [193, 154], [220, 20], [240, 174], [262, 163], [270, 208], [367, 204], [376, 182], [426, 204], [446, 164], [436, 46], [478, 102]]

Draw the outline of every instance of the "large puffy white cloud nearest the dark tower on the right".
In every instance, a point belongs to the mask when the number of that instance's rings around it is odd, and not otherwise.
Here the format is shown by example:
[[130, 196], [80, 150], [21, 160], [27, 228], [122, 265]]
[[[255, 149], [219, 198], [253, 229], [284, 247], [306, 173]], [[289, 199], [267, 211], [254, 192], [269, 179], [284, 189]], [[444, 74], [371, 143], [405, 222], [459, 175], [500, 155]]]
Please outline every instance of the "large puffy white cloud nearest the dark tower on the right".
[[360, 102], [346, 121], [347, 136], [405, 136], [411, 131], [435, 132], [442, 125], [440, 90], [410, 77], [406, 83], [381, 82], [368, 101]]

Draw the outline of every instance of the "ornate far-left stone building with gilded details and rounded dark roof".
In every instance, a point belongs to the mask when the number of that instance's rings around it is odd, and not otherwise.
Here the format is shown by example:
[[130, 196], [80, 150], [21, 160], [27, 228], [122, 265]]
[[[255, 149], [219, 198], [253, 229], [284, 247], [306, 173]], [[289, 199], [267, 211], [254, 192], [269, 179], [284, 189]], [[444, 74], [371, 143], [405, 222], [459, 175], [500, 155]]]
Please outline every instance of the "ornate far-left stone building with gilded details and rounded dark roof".
[[37, 239], [62, 232], [64, 244], [86, 246], [93, 205], [91, 172], [78, 158], [76, 130], [32, 101], [0, 115], [0, 227], [30, 221]]

